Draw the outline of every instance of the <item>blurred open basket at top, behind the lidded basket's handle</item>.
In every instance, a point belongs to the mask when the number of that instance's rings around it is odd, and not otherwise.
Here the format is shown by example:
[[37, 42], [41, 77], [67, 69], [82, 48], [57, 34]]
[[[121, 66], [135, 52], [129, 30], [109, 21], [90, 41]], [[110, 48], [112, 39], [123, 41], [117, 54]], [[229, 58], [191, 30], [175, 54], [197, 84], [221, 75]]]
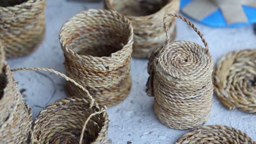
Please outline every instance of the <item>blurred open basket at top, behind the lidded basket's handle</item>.
[[[162, 17], [178, 13], [179, 0], [104, 0], [104, 8], [117, 10], [132, 22], [134, 29], [133, 57], [149, 58], [151, 53], [165, 44]], [[167, 20], [170, 40], [176, 37], [176, 20]]]

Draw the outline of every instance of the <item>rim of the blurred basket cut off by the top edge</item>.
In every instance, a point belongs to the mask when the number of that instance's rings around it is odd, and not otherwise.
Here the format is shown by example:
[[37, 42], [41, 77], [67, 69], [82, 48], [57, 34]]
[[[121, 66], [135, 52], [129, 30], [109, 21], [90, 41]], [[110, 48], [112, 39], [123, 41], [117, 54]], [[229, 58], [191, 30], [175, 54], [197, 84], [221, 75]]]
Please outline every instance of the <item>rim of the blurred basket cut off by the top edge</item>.
[[[115, 7], [112, 3], [110, 3], [110, 1], [112, 0], [104, 0], [104, 2], [106, 3], [106, 5], [110, 6], [108, 7], [109, 9], [111, 10], [115, 10]], [[114, 0], [113, 0], [114, 1]], [[125, 15], [128, 19], [149, 19], [150, 17], [153, 17], [155, 15], [158, 15], [159, 13], [161, 13], [161, 11], [163, 11], [164, 9], [166, 9], [166, 7], [168, 7], [169, 5], [171, 5], [172, 3], [176, 2], [176, 1], [179, 1], [179, 0], [168, 0], [168, 3], [164, 5], [164, 7], [162, 7], [161, 9], [159, 9], [158, 11], [156, 11], [155, 13], [153, 14], [149, 14], [149, 15], [144, 15], [144, 16], [132, 16], [132, 15]], [[120, 13], [121, 14], [121, 13]]]

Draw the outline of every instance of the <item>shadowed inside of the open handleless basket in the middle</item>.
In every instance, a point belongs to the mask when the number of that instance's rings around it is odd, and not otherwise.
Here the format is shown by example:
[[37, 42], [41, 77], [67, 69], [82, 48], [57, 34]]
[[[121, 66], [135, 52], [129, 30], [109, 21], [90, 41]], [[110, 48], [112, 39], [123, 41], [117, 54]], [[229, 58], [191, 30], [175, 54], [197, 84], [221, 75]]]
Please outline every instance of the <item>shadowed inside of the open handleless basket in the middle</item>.
[[68, 24], [63, 26], [63, 45], [79, 55], [94, 57], [109, 57], [123, 49], [130, 37], [129, 23], [111, 15], [104, 16], [93, 21], [90, 16], [74, 17], [79, 20], [72, 22], [73, 28]]

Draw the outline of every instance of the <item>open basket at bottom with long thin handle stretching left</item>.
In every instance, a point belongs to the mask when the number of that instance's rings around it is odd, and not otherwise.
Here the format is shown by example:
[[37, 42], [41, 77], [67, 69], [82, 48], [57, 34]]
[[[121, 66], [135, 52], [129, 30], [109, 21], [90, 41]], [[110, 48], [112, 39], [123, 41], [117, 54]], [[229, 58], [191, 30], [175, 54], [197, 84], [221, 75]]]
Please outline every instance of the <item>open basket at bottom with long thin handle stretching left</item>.
[[64, 74], [48, 68], [19, 68], [44, 70], [60, 75], [84, 91], [84, 98], [66, 98], [46, 106], [34, 122], [31, 143], [106, 143], [108, 115], [106, 106], [98, 105], [89, 92]]

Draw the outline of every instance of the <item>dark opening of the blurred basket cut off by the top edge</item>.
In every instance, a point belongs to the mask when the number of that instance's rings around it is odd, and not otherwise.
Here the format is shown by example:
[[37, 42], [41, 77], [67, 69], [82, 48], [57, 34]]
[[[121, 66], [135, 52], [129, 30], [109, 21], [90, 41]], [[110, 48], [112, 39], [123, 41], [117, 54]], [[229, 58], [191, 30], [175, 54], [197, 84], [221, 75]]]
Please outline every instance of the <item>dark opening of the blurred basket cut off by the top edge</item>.
[[158, 12], [172, 0], [110, 0], [115, 10], [128, 16], [147, 16]]

